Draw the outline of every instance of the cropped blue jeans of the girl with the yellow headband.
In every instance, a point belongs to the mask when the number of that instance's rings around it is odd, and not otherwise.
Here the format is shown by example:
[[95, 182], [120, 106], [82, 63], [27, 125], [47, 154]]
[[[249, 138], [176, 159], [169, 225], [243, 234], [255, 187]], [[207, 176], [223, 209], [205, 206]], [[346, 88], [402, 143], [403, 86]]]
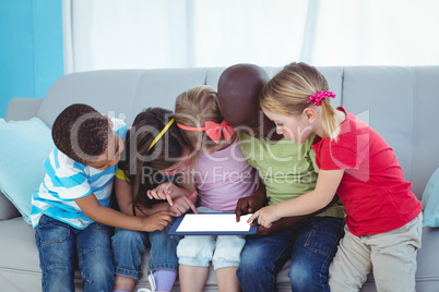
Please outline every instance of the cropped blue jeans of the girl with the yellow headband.
[[173, 222], [163, 231], [150, 233], [117, 228], [111, 239], [116, 275], [139, 280], [142, 276], [142, 256], [150, 242], [150, 270], [177, 271], [177, 245], [181, 236], [168, 235]]

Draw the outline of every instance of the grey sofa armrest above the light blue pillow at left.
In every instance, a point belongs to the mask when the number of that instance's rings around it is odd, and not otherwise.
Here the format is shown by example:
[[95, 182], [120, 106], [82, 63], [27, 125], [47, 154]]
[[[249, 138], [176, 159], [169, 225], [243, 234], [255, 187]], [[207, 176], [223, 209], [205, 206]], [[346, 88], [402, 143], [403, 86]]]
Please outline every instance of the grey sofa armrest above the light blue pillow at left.
[[44, 98], [14, 97], [9, 101], [5, 121], [24, 121], [37, 115]]

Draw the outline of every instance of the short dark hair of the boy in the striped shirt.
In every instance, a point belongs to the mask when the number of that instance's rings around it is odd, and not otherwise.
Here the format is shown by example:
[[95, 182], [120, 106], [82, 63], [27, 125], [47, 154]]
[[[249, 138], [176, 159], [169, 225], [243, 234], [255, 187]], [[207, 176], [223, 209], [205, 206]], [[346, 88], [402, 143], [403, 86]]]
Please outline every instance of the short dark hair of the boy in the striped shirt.
[[110, 131], [108, 120], [103, 114], [91, 106], [74, 104], [57, 117], [51, 136], [59, 150], [86, 165], [104, 154]]

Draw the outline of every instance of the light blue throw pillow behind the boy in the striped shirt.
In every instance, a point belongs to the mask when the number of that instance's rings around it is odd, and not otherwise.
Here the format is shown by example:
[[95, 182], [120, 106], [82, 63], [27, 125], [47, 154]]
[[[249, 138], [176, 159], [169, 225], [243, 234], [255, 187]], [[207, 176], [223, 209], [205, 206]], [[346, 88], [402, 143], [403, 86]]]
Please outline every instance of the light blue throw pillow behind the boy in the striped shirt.
[[38, 118], [0, 119], [0, 190], [31, 223], [32, 195], [45, 175], [44, 160], [54, 148], [50, 129]]

